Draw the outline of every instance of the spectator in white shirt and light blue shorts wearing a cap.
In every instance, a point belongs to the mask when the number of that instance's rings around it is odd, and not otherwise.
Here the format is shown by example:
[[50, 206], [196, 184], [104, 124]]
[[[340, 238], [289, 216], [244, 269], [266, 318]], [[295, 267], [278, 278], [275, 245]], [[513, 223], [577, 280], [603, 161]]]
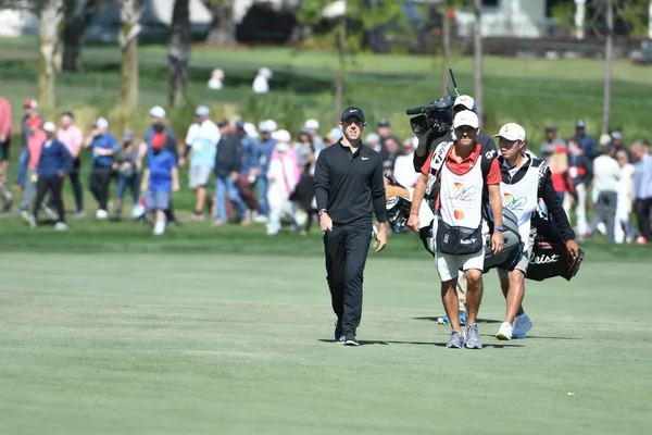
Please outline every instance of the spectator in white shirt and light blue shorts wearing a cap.
[[186, 151], [179, 159], [179, 166], [183, 166], [190, 154], [188, 185], [195, 190], [195, 212], [192, 213], [195, 220], [204, 219], [206, 186], [215, 165], [217, 142], [222, 138], [220, 128], [209, 119], [210, 114], [211, 111], [205, 105], [199, 105], [196, 109], [196, 122], [188, 128]]

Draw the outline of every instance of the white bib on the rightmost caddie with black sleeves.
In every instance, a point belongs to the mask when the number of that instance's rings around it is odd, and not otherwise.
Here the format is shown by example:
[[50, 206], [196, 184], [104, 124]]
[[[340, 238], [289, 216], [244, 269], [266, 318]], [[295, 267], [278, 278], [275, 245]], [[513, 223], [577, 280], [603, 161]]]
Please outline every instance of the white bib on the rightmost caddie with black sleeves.
[[503, 209], [510, 210], [518, 220], [518, 234], [529, 250], [531, 217], [539, 203], [539, 167], [534, 167], [531, 161], [527, 164], [526, 174], [517, 183], [501, 182], [500, 196]]

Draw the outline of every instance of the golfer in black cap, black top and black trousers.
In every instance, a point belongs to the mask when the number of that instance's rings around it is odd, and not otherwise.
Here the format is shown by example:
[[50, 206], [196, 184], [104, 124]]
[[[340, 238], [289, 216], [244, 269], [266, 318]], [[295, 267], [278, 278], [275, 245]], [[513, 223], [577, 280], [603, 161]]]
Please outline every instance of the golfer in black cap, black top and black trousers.
[[376, 213], [379, 224], [374, 248], [380, 252], [387, 245], [387, 209], [380, 154], [361, 140], [364, 113], [346, 109], [340, 126], [344, 137], [319, 152], [314, 186], [324, 232], [326, 278], [337, 314], [335, 339], [358, 346], [364, 265], [374, 233], [372, 214]]

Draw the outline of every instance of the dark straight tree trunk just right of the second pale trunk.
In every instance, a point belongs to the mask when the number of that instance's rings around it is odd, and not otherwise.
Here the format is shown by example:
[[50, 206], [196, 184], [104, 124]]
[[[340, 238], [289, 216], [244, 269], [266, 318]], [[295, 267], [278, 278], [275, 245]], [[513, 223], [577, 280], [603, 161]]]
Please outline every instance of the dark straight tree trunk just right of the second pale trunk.
[[188, 61], [190, 59], [190, 8], [189, 0], [175, 0], [170, 32], [170, 105], [176, 108], [186, 97]]

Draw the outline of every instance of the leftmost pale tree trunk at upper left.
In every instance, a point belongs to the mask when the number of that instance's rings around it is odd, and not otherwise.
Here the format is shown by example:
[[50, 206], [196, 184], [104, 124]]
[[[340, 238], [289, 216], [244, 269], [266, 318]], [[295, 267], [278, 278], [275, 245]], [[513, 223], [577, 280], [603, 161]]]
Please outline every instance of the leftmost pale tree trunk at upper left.
[[48, 114], [54, 108], [57, 52], [60, 49], [63, 0], [46, 0], [40, 13], [40, 45], [38, 62], [38, 102]]

